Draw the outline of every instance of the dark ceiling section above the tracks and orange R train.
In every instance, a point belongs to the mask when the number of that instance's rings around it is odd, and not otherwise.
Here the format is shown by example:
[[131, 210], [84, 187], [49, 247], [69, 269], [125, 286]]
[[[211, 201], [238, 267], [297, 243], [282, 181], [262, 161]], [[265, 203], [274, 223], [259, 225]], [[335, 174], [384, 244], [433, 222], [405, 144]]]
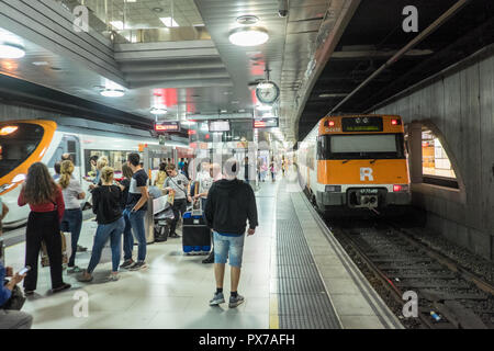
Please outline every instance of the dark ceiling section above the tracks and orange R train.
[[[338, 106], [397, 50], [456, 3], [456, 0], [361, 1], [303, 109], [297, 138], [303, 139], [328, 113], [369, 112], [386, 99], [492, 44], [494, 2], [469, 1], [407, 55]], [[418, 34], [403, 31], [405, 15], [402, 11], [406, 5], [415, 5], [418, 10]]]

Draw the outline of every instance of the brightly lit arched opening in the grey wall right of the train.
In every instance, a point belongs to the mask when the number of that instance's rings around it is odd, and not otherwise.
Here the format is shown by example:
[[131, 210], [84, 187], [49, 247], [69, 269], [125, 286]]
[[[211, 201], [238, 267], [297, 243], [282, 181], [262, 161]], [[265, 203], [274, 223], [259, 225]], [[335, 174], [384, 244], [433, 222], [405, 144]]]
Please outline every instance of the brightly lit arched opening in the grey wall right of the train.
[[424, 183], [458, 189], [458, 180], [439, 138], [424, 128], [422, 132], [422, 174]]

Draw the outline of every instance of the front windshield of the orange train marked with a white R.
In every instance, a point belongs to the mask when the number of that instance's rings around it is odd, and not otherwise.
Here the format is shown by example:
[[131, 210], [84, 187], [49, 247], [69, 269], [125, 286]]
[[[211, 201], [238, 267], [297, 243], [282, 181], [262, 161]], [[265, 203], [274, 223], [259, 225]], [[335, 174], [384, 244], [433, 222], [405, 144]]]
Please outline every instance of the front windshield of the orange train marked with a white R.
[[318, 140], [319, 160], [403, 159], [403, 134], [323, 135]]

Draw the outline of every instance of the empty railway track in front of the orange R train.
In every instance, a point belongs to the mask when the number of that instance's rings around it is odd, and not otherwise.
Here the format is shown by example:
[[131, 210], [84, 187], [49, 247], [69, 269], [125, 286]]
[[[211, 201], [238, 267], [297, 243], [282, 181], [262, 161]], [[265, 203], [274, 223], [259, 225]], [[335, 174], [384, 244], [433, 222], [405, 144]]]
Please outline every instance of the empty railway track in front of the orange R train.
[[398, 314], [407, 327], [494, 329], [494, 286], [481, 276], [388, 222], [330, 226], [371, 283], [386, 290], [390, 305], [403, 306], [405, 292], [417, 294], [417, 318]]

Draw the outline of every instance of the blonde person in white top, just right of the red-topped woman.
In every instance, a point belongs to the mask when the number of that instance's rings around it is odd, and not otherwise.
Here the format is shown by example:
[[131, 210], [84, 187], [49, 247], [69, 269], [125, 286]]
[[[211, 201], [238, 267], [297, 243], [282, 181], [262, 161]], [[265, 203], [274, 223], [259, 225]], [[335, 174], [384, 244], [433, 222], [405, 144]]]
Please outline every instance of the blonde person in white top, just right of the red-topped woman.
[[65, 202], [65, 213], [61, 219], [61, 231], [70, 233], [71, 253], [68, 262], [68, 273], [79, 273], [80, 269], [76, 265], [76, 252], [79, 242], [80, 229], [82, 227], [82, 210], [80, 200], [86, 199], [86, 193], [79, 181], [74, 177], [74, 163], [70, 160], [61, 162], [60, 178], [58, 184], [61, 188]]

